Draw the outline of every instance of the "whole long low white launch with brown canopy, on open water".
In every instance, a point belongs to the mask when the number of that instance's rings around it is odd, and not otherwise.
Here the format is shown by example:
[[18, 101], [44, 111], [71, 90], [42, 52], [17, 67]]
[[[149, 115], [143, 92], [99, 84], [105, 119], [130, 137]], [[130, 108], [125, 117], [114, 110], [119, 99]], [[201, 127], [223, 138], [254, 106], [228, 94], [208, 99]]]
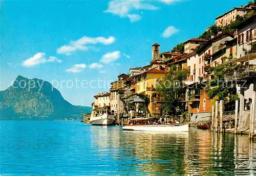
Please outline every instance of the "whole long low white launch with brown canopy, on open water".
[[134, 118], [122, 130], [126, 131], [158, 131], [188, 132], [188, 124], [157, 124], [156, 118]]

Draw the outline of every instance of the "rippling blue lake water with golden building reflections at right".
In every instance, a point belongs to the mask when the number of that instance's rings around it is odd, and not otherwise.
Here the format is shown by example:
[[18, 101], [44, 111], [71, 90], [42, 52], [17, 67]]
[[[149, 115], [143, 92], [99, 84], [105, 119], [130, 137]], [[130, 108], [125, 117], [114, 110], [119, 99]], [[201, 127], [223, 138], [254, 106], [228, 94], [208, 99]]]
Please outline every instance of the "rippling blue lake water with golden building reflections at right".
[[0, 121], [1, 175], [256, 175], [256, 142], [190, 128], [125, 132], [79, 121]]

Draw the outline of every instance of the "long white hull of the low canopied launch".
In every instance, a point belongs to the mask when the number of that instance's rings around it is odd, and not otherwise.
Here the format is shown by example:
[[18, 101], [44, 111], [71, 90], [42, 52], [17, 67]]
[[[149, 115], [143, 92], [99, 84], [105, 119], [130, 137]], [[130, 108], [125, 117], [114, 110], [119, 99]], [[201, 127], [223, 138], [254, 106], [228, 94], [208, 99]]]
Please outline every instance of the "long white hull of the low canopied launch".
[[158, 131], [158, 132], [188, 132], [188, 124], [173, 125], [127, 125], [124, 131]]

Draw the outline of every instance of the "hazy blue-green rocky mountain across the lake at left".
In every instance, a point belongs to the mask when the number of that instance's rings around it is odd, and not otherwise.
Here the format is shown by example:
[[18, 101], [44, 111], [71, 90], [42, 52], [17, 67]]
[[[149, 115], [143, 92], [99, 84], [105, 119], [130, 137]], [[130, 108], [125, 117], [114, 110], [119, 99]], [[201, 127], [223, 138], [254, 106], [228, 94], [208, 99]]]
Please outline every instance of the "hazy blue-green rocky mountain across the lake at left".
[[13, 85], [0, 91], [0, 119], [81, 118], [91, 107], [74, 106], [51, 83], [18, 76]]

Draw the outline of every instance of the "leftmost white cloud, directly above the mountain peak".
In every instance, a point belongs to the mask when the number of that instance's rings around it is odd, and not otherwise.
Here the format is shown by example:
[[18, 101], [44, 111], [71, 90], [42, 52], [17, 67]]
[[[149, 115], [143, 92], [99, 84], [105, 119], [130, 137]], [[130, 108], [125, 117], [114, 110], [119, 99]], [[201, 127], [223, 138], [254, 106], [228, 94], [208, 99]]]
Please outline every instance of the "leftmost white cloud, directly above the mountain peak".
[[48, 59], [45, 57], [45, 53], [37, 53], [33, 57], [24, 60], [22, 65], [25, 67], [33, 67], [35, 65], [44, 64], [46, 62], [58, 62], [61, 63], [62, 61], [60, 59], [57, 59], [56, 57], [50, 56]]

